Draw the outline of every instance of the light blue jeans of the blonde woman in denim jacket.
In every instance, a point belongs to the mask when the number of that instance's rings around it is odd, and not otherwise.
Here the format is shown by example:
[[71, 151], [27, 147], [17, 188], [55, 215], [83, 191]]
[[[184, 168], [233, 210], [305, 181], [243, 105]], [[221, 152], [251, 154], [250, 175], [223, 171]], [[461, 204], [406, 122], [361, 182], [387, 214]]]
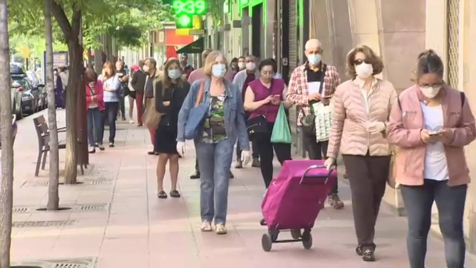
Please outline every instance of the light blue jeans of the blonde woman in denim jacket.
[[200, 210], [202, 221], [226, 223], [228, 183], [233, 144], [229, 139], [218, 143], [195, 142], [200, 166]]

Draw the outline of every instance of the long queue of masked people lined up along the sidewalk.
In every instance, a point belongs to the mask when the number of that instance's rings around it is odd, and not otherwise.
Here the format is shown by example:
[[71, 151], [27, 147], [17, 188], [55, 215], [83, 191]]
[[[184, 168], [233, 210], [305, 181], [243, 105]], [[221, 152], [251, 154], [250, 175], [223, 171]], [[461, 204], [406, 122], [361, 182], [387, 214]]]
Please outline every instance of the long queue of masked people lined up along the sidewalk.
[[[271, 139], [277, 111], [280, 105], [286, 109], [298, 105], [297, 125], [304, 134], [309, 159], [325, 160], [331, 169], [342, 155], [351, 189], [356, 255], [364, 261], [376, 259], [375, 225], [393, 169], [408, 212], [410, 266], [425, 267], [431, 206], [436, 202], [447, 266], [462, 268], [462, 222], [470, 181], [463, 147], [476, 138], [475, 120], [464, 93], [445, 83], [444, 65], [432, 50], [418, 56], [415, 85], [400, 96], [389, 81], [377, 77], [383, 61], [370, 47], [359, 46], [347, 54], [349, 79], [343, 83], [337, 68], [323, 62], [322, 54], [321, 42], [309, 40], [305, 44], [307, 61], [293, 71], [289, 86], [277, 73], [273, 59], [258, 61], [252, 55], [228, 64], [221, 52], [205, 50], [204, 67], [196, 70], [185, 55], [180, 60], [169, 59], [163, 72], [152, 58], [143, 67], [142, 63], [133, 66], [131, 86], [139, 126], [143, 98], [144, 117], [153, 111], [160, 118], [156, 125], [148, 126], [154, 145], [149, 154], [159, 156], [157, 197], [168, 197], [163, 187], [167, 163], [172, 180], [169, 194], [181, 196], [177, 190], [179, 157], [187, 152], [185, 139], [193, 139], [196, 174], [192, 177], [201, 179], [201, 231], [226, 234], [234, 145], [235, 168], [253, 159], [267, 188], [273, 177], [274, 153], [281, 164], [292, 158], [290, 143]], [[92, 70], [86, 71], [85, 79], [91, 150], [96, 146], [104, 149], [104, 127], [98, 123], [102, 111], [109, 121], [112, 147], [120, 102], [116, 91], [125, 80], [114, 74], [108, 62], [98, 79]], [[258, 117], [264, 118], [266, 131], [250, 136], [247, 122]], [[398, 147], [396, 156], [391, 146]], [[344, 207], [337, 183], [329, 203], [335, 209]]]

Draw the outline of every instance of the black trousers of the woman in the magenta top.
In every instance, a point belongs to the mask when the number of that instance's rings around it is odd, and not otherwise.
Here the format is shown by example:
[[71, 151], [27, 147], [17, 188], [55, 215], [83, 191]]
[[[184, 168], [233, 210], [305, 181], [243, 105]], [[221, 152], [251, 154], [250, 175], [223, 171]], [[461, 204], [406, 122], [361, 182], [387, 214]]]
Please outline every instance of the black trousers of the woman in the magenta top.
[[256, 135], [254, 137], [259, 151], [261, 175], [263, 176], [264, 185], [266, 188], [268, 188], [273, 178], [274, 152], [276, 152], [277, 160], [281, 163], [281, 165], [283, 165], [285, 160], [291, 160], [290, 143], [271, 142], [273, 126], [274, 123], [268, 122], [268, 133], [264, 135]]

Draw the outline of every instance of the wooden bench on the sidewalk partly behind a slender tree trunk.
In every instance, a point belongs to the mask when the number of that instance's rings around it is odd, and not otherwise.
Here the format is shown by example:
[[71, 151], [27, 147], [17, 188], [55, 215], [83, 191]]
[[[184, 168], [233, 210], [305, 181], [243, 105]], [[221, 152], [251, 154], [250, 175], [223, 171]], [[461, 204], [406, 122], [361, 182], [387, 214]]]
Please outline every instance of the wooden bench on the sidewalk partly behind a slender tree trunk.
[[[33, 123], [35, 125], [36, 134], [38, 136], [38, 159], [36, 160], [35, 169], [35, 177], [37, 177], [39, 174], [40, 163], [42, 163], [42, 170], [45, 170], [46, 157], [48, 155], [48, 151], [50, 150], [50, 129], [48, 128], [48, 124], [46, 123], [44, 116], [33, 118]], [[66, 132], [66, 128], [58, 128], [58, 133], [61, 132]], [[64, 142], [59, 142], [58, 148], [65, 149], [66, 144]]]

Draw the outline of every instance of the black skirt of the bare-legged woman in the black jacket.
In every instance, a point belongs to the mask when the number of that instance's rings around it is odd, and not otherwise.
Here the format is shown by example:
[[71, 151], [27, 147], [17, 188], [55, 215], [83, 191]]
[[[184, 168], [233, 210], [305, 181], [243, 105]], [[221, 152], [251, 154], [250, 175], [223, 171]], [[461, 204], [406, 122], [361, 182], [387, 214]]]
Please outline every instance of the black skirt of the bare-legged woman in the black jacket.
[[177, 152], [177, 126], [168, 124], [169, 120], [163, 118], [155, 132], [155, 151], [163, 154], [178, 154]]

